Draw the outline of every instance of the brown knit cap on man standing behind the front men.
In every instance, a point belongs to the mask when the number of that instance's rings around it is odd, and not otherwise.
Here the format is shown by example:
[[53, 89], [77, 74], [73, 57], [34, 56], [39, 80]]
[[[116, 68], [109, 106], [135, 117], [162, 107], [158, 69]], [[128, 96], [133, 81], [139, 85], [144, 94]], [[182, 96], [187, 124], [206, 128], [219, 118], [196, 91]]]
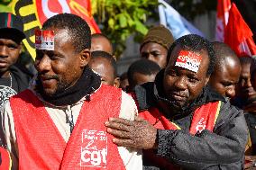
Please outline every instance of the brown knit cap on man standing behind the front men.
[[163, 25], [155, 26], [151, 28], [145, 35], [141, 48], [148, 42], [155, 42], [163, 46], [165, 49], [169, 49], [174, 39], [171, 32]]

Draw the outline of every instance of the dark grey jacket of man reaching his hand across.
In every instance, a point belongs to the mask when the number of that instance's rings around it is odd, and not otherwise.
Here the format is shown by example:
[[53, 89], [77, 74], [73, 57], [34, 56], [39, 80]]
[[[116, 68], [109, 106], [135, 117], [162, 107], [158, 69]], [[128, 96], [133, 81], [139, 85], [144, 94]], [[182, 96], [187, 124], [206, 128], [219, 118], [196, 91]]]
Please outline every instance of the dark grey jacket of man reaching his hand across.
[[[155, 83], [135, 87], [139, 110], [158, 107], [156, 103], [162, 100], [160, 84], [161, 81], [157, 78]], [[214, 101], [222, 101], [214, 131], [203, 130], [196, 136], [189, 134], [195, 109]], [[206, 86], [197, 100], [171, 121], [178, 124], [181, 130], [158, 130], [158, 156], [183, 169], [242, 169], [248, 139], [243, 112], [210, 87]], [[143, 164], [145, 169], [162, 169], [151, 165], [147, 160], [143, 160]]]

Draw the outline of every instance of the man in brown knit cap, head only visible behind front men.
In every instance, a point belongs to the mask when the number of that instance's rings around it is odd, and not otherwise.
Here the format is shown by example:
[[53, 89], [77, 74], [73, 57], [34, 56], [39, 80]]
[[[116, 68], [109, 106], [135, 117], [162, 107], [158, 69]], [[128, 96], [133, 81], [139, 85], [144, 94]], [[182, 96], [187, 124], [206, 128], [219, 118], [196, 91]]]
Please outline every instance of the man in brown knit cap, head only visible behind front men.
[[156, 62], [160, 68], [167, 65], [167, 52], [174, 41], [171, 32], [163, 25], [151, 28], [145, 35], [140, 53], [142, 58]]

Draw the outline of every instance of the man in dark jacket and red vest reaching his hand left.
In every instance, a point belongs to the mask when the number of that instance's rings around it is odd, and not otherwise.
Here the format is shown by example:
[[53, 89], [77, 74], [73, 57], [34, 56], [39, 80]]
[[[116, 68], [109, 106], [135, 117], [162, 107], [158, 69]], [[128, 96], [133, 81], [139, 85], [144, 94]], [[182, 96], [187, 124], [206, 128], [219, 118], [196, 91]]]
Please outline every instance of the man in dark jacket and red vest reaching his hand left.
[[114, 143], [143, 148], [145, 169], [242, 169], [248, 138], [243, 112], [206, 85], [215, 65], [212, 44], [183, 36], [168, 60], [154, 83], [135, 87], [139, 115], [147, 121], [105, 122]]

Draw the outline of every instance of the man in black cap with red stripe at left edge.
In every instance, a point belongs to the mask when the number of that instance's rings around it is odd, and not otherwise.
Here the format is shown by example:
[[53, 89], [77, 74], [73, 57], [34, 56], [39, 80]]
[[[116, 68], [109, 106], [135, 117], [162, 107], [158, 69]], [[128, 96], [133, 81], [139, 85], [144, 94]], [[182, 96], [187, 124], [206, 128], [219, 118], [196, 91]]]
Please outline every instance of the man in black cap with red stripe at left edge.
[[30, 77], [14, 64], [22, 53], [23, 21], [12, 13], [0, 13], [0, 105], [28, 87]]

